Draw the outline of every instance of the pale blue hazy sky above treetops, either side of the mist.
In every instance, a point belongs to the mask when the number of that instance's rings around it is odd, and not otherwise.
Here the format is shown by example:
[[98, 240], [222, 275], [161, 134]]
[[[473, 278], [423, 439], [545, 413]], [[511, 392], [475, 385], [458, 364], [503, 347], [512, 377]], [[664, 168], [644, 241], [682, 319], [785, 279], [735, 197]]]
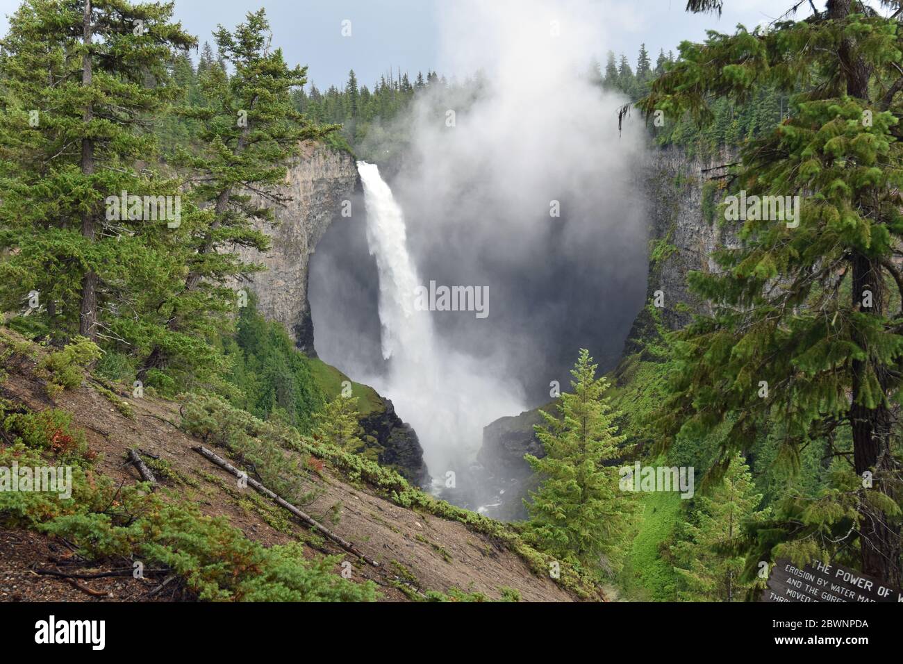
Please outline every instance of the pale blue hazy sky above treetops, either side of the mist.
[[[498, 0], [486, 0], [498, 2]], [[6, 15], [19, 0], [0, 0], [0, 32]], [[549, 0], [548, 5], [571, 5], [573, 0]], [[640, 42], [655, 59], [659, 49], [675, 49], [684, 39], [699, 41], [705, 30], [731, 31], [736, 23], [755, 26], [775, 18], [792, 0], [726, 0], [724, 14], [693, 15], [684, 12], [684, 0], [591, 0], [599, 16], [595, 53], [624, 51], [636, 60]], [[209, 40], [217, 23], [231, 27], [250, 9], [265, 6], [273, 25], [274, 43], [291, 63], [307, 64], [310, 79], [318, 87], [340, 84], [354, 69], [368, 85], [390, 68], [412, 72], [452, 71], [448, 58], [452, 37], [443, 33], [443, 16], [456, 14], [456, 0], [176, 0], [176, 17], [200, 38]], [[819, 0], [816, 5], [824, 5]], [[514, 6], [517, 6], [516, 4]], [[352, 36], [342, 37], [341, 22], [351, 21]], [[461, 16], [456, 16], [460, 24]], [[513, 18], [514, 20], [514, 18]], [[444, 47], [443, 47], [444, 45]], [[444, 65], [444, 66], [443, 66]]]

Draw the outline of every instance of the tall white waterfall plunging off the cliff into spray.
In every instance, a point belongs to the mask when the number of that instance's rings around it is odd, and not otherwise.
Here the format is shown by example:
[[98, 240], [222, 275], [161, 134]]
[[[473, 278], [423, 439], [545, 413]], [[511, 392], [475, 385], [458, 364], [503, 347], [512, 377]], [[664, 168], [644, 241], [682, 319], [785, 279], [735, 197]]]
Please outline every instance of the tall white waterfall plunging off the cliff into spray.
[[414, 426], [435, 486], [466, 472], [483, 426], [525, 410], [516, 388], [487, 374], [487, 363], [452, 351], [433, 330], [433, 313], [414, 307], [423, 285], [407, 252], [405, 215], [376, 164], [358, 162], [367, 207], [367, 241], [379, 274], [379, 321], [385, 378], [368, 379]]

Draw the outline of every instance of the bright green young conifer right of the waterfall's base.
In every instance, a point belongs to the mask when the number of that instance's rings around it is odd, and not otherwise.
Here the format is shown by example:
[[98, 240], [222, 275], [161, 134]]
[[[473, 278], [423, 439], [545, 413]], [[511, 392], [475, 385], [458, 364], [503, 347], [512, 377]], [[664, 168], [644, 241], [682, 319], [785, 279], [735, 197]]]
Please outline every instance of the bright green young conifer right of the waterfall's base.
[[581, 350], [571, 370], [573, 393], [561, 395], [559, 416], [540, 411], [545, 425], [535, 432], [545, 457], [525, 459], [542, 483], [524, 502], [537, 547], [613, 574], [621, 566], [629, 497], [619, 490], [618, 469], [606, 462], [619, 457], [625, 437], [617, 435], [617, 413], [602, 396], [608, 384], [596, 378], [597, 367]]

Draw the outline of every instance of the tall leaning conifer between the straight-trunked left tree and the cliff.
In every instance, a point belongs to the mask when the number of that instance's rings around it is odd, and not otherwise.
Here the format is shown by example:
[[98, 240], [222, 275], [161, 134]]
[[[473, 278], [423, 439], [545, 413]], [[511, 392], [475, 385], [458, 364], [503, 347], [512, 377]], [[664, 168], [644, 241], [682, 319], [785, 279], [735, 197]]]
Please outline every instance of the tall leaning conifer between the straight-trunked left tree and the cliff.
[[[273, 192], [304, 139], [319, 138], [332, 126], [316, 126], [295, 110], [291, 93], [306, 83], [306, 69], [290, 68], [280, 49], [270, 48], [269, 23], [263, 9], [247, 14], [231, 33], [215, 34], [220, 58], [234, 66], [230, 77], [219, 62], [200, 73], [202, 102], [181, 109], [200, 125], [203, 150], [182, 147], [172, 164], [192, 173], [191, 199], [200, 208], [187, 243], [188, 276], [182, 288], [161, 304], [168, 316], [167, 335], [154, 340], [139, 375], [144, 377], [178, 360], [190, 373], [205, 356], [202, 348], [186, 353], [192, 340], [214, 339], [233, 310], [230, 280], [259, 269], [244, 261], [237, 248], [265, 251], [269, 240], [256, 221], [272, 220], [281, 199]], [[259, 205], [252, 194], [263, 199]]]

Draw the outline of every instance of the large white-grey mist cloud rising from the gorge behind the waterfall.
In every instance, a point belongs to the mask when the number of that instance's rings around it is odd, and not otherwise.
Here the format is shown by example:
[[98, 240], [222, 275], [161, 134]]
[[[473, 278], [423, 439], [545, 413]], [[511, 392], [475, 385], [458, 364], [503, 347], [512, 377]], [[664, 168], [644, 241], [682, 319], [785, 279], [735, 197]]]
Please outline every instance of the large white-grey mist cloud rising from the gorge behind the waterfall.
[[642, 128], [619, 134], [627, 99], [588, 76], [590, 54], [604, 50], [593, 30], [605, 5], [565, 6], [455, 3], [442, 21], [442, 71], [469, 83], [425, 89], [374, 133], [406, 137], [401, 159], [381, 170], [420, 284], [485, 287], [488, 316], [427, 313], [428, 345], [399, 369], [381, 343], [362, 197], [312, 257], [317, 352], [393, 400], [433, 477], [472, 461], [483, 426], [546, 403], [553, 380], [566, 388], [579, 348], [610, 369], [643, 304]]

